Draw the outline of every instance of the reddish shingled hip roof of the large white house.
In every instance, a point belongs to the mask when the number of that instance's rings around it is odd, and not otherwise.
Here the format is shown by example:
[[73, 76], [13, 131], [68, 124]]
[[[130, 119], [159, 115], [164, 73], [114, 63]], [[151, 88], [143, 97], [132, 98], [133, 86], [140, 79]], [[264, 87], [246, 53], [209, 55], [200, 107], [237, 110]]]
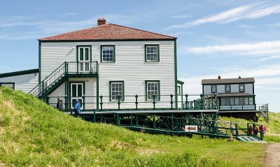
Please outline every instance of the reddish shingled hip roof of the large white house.
[[103, 24], [89, 29], [50, 36], [38, 39], [38, 41], [113, 41], [113, 40], [175, 40], [176, 37], [157, 34], [141, 29], [120, 26], [117, 24]]

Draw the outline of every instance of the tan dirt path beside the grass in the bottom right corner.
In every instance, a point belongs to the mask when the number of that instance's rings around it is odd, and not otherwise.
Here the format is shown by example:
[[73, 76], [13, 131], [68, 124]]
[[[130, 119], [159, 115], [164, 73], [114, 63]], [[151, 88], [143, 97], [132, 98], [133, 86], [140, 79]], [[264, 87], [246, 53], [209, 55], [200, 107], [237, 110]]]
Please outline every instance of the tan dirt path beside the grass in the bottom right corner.
[[280, 167], [280, 143], [267, 144], [265, 153], [265, 166]]

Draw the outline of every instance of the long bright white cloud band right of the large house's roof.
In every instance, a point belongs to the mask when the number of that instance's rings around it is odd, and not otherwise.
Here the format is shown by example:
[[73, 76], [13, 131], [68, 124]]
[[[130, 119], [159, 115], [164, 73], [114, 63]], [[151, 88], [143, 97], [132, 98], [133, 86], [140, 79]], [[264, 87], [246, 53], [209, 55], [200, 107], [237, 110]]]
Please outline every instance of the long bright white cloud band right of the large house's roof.
[[280, 54], [280, 41], [263, 41], [259, 43], [241, 43], [233, 45], [208, 45], [204, 47], [183, 48], [185, 52], [195, 54], [213, 54], [217, 52], [236, 53], [235, 55], [274, 55]]

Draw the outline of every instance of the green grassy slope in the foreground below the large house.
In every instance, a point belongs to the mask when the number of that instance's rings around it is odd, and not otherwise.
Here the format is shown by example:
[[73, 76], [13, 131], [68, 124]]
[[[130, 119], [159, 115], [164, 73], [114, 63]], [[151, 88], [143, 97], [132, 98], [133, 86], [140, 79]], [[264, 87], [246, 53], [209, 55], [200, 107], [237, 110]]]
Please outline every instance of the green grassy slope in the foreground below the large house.
[[93, 124], [0, 88], [0, 166], [262, 166], [264, 150], [258, 143]]

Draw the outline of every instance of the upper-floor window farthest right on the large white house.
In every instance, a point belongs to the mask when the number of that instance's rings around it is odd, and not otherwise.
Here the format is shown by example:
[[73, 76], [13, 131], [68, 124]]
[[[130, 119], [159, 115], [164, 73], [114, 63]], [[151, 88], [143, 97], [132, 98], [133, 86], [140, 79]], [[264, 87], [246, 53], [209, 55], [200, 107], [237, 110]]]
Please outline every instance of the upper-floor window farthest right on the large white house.
[[145, 45], [145, 61], [160, 61], [160, 45]]

